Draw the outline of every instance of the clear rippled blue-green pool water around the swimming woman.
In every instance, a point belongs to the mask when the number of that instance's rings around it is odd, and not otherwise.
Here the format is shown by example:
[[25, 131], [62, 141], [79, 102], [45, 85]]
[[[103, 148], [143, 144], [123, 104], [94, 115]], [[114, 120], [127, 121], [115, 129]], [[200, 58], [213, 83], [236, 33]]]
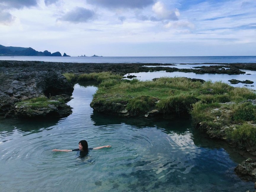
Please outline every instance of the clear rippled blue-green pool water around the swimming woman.
[[[94, 113], [94, 86], [74, 86], [73, 113], [50, 120], [0, 120], [0, 191], [247, 191], [234, 167], [244, 158], [208, 139], [189, 119], [119, 118]], [[92, 150], [75, 149], [86, 139]]]

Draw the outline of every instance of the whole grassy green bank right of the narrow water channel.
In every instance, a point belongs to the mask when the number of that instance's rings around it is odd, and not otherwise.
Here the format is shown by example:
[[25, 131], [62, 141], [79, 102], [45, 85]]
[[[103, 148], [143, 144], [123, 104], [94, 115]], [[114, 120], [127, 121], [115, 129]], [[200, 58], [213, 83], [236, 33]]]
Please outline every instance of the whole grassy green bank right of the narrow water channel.
[[[93, 76], [97, 80], [97, 75]], [[256, 132], [255, 126], [250, 123], [256, 122], [256, 106], [249, 102], [241, 103], [248, 99], [256, 99], [255, 92], [221, 81], [201, 83], [184, 77], [139, 81], [113, 77], [101, 80], [91, 107], [116, 113], [127, 110], [131, 116], [144, 116], [153, 109], [157, 109], [159, 114], [174, 116], [190, 113], [192, 122], [206, 129], [210, 137], [252, 148]], [[233, 130], [236, 123], [240, 126]]]

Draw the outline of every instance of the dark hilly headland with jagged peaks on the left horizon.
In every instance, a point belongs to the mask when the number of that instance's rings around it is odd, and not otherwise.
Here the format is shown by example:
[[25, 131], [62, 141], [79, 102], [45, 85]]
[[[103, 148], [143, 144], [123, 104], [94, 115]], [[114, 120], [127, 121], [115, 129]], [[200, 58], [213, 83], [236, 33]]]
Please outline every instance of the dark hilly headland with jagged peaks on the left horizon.
[[61, 55], [60, 52], [51, 53], [47, 50], [44, 52], [36, 51], [31, 47], [5, 47], [0, 45], [0, 56], [52, 56], [52, 57], [70, 57], [66, 53]]

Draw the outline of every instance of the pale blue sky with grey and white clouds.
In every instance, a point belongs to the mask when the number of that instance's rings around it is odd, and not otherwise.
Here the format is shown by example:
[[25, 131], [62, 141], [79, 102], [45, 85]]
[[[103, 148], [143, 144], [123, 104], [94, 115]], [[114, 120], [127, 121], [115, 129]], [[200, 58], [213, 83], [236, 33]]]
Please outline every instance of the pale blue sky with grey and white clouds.
[[256, 55], [255, 0], [0, 0], [0, 44], [71, 56]]

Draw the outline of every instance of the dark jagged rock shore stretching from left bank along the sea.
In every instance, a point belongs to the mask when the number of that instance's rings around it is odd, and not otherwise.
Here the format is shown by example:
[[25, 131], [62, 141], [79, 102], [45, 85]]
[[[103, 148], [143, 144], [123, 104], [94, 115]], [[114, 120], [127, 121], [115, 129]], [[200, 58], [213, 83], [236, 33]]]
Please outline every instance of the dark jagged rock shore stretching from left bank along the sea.
[[[156, 67], [146, 67], [146, 65], [153, 65]], [[158, 67], [159, 65], [162, 66]], [[193, 73], [242, 74], [244, 72], [240, 69], [256, 71], [256, 63], [234, 63], [228, 65], [225, 63], [218, 63], [208, 67], [202, 66], [200, 69], [178, 69], [175, 68], [175, 65], [173, 65], [173, 67], [165, 67], [165, 65], [173, 64], [56, 63], [0, 60], [0, 117], [16, 117], [18, 113], [15, 112], [15, 103], [25, 99], [41, 96], [51, 97], [62, 94], [70, 96], [73, 92], [73, 84], [67, 81], [63, 76], [63, 73], [81, 74], [110, 71], [115, 74], [125, 75], [127, 73], [148, 71], [180, 71]], [[47, 110], [49, 110], [49, 108]], [[57, 111], [58, 110], [56, 109], [55, 113], [57, 113]]]

